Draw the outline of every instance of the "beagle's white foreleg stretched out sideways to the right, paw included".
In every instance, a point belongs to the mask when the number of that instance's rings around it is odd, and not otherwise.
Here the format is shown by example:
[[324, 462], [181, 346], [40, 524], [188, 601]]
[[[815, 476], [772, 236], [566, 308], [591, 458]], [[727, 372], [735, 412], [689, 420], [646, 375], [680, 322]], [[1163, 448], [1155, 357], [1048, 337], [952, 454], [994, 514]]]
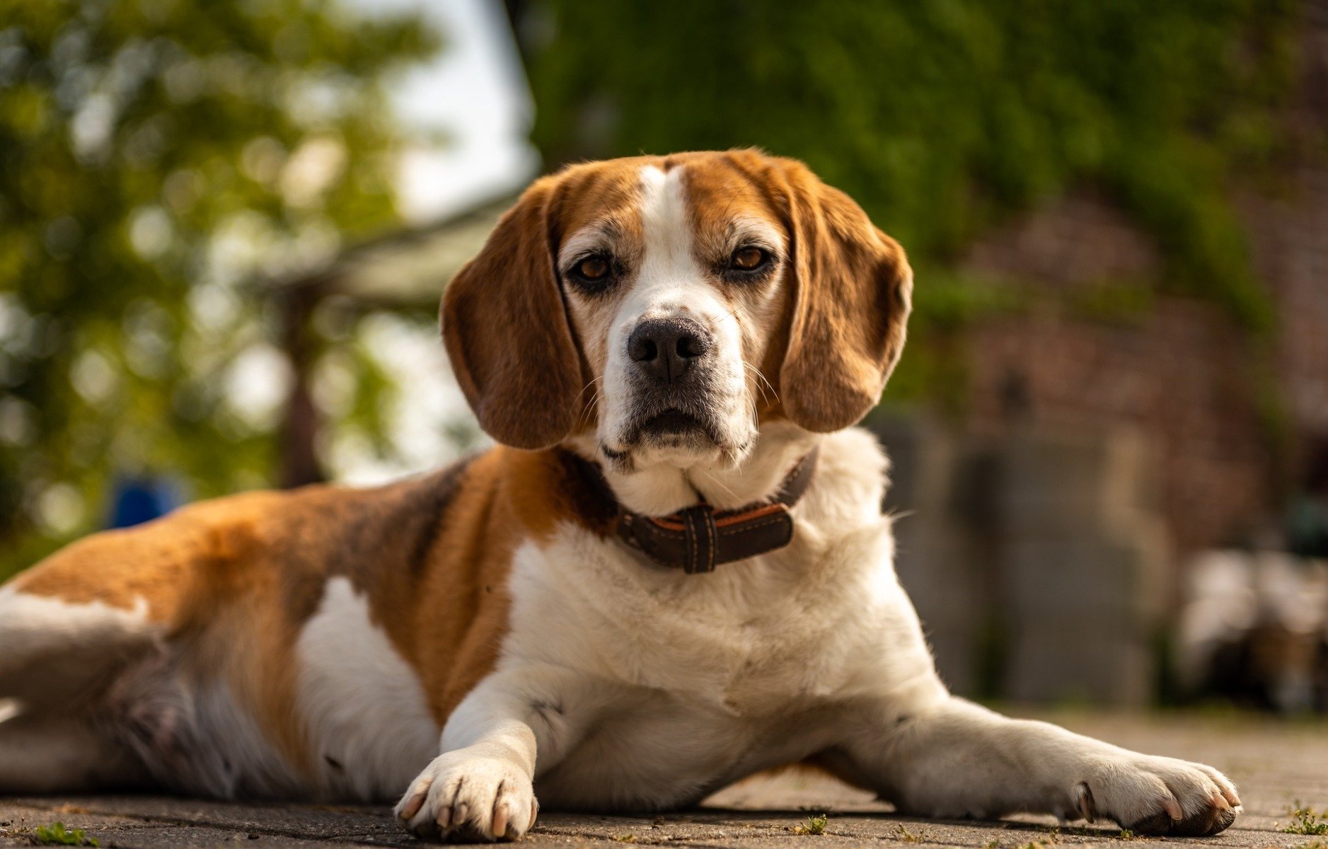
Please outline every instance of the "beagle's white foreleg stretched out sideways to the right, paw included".
[[1141, 834], [1215, 834], [1235, 820], [1235, 787], [1203, 764], [1130, 752], [963, 699], [858, 715], [827, 753], [845, 779], [902, 810], [989, 818], [1052, 813], [1114, 820]]

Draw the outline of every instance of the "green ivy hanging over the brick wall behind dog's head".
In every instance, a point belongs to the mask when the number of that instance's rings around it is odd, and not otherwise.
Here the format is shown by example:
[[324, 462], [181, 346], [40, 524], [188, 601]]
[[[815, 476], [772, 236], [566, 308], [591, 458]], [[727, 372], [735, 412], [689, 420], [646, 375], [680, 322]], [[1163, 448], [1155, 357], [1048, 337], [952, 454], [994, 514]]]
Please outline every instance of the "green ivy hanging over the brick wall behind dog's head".
[[[1154, 234], [1169, 284], [1268, 327], [1228, 189], [1283, 153], [1304, 4], [507, 7], [546, 162], [757, 145], [847, 190], [930, 270], [1003, 215], [1094, 186]], [[920, 330], [963, 314], [959, 288], [919, 287]]]

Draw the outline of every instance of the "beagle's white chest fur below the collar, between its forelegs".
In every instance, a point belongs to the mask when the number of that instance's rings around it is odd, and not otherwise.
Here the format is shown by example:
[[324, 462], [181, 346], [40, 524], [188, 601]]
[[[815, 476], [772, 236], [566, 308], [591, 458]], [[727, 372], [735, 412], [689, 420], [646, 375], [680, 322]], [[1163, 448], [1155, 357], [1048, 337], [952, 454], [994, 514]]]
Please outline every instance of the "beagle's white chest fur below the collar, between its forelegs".
[[781, 551], [687, 575], [572, 527], [519, 550], [495, 678], [535, 706], [540, 799], [687, 802], [814, 753], [854, 696], [932, 680], [883, 486], [879, 448], [846, 432], [825, 440]]

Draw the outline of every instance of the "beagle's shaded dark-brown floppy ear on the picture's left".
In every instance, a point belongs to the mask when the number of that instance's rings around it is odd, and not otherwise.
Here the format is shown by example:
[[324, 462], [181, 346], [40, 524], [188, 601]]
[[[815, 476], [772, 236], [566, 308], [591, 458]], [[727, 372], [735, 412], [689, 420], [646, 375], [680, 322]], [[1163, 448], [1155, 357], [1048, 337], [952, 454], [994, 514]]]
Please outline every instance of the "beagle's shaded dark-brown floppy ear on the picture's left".
[[586, 385], [554, 274], [556, 181], [544, 178], [498, 221], [442, 296], [442, 339], [479, 426], [514, 448], [571, 433]]

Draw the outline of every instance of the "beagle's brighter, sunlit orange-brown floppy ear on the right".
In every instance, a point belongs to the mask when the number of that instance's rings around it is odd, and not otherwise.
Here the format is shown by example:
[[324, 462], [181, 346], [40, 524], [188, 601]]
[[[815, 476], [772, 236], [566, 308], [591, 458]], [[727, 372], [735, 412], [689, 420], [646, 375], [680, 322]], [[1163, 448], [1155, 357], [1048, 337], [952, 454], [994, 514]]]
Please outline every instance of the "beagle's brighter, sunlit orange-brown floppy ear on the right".
[[912, 270], [899, 243], [805, 165], [780, 161], [793, 231], [793, 319], [780, 397], [815, 432], [857, 424], [880, 400], [904, 345]]

